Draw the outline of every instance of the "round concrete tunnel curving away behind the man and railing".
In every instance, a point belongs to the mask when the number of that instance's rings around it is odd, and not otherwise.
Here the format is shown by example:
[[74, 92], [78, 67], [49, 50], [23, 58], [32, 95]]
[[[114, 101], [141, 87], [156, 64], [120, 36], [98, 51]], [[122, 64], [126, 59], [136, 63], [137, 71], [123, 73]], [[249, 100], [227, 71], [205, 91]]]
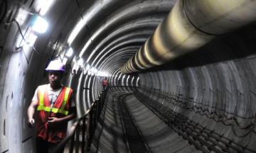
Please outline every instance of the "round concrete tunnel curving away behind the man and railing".
[[68, 128], [107, 91], [88, 152], [256, 152], [255, 22], [255, 0], [0, 0], [0, 152], [36, 152], [52, 60]]

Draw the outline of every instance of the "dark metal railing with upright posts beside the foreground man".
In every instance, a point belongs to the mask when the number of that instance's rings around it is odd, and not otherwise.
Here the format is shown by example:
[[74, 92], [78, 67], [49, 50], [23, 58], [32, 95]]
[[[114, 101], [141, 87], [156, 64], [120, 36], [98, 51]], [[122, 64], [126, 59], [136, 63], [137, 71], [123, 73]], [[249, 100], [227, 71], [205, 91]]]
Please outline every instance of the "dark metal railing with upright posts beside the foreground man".
[[[70, 145], [70, 153], [74, 152], [74, 147], [75, 153], [86, 152], [87, 149], [90, 149], [92, 137], [104, 105], [106, 93], [107, 89], [103, 90], [100, 97], [97, 99], [97, 101], [92, 103], [92, 106], [86, 111], [85, 115], [75, 121], [73, 126], [70, 128], [69, 134], [57, 147], [55, 147], [53, 153], [60, 152], [60, 150], [63, 149], [63, 147], [65, 147], [68, 143]], [[82, 137], [82, 140], [80, 140], [80, 137]]]

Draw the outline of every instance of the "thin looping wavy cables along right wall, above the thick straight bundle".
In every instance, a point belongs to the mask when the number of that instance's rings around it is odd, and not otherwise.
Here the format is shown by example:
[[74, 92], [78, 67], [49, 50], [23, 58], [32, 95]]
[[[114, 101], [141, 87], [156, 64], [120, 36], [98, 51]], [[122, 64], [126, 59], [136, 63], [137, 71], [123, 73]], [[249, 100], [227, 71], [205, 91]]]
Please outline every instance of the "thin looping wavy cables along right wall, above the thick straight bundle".
[[[234, 113], [230, 113], [228, 111], [225, 111], [225, 107], [223, 109], [220, 109], [213, 106], [205, 105], [203, 103], [198, 103], [196, 101], [191, 101], [191, 99], [193, 98], [185, 98], [182, 94], [172, 95], [164, 91], [160, 91], [159, 89], [149, 89], [143, 85], [139, 88], [143, 89], [146, 94], [154, 95], [157, 98], [161, 98], [164, 101], [173, 104], [174, 106], [178, 106], [188, 111], [193, 111], [195, 113], [198, 113], [199, 115], [205, 115], [207, 118], [215, 120], [215, 122], [223, 123], [223, 125], [231, 126], [232, 128], [237, 127], [241, 130], [248, 131], [245, 135], [240, 136], [233, 130], [234, 134], [237, 137], [245, 137], [251, 132], [256, 134], [256, 131], [253, 130], [253, 128], [255, 128], [255, 123], [252, 123], [252, 120], [256, 120], [256, 114], [255, 116], [244, 117], [235, 113], [236, 108]], [[217, 111], [219, 113], [217, 113]], [[250, 120], [250, 123], [242, 126], [240, 125], [240, 123], [238, 123], [238, 118], [241, 118], [242, 120]], [[231, 123], [228, 121], [233, 122]]]

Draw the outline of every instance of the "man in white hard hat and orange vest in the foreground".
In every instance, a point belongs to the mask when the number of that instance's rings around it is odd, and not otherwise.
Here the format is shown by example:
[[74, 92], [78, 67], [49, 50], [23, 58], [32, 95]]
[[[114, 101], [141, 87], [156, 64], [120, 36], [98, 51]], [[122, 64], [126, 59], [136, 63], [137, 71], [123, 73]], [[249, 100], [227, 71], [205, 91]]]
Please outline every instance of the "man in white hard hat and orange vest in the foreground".
[[[76, 116], [73, 90], [60, 84], [65, 69], [60, 61], [51, 61], [46, 70], [50, 84], [38, 86], [28, 107], [28, 126], [36, 120], [36, 152], [48, 153], [64, 139], [68, 121]], [[63, 148], [64, 150], [64, 148]], [[63, 151], [62, 151], [63, 152]]]

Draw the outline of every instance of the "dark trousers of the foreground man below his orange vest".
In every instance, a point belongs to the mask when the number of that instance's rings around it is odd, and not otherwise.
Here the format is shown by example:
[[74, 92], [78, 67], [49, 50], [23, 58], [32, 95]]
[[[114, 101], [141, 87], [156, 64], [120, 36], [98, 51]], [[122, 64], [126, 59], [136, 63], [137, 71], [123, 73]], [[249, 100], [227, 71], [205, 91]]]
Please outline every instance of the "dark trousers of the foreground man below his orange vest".
[[[50, 153], [53, 151], [53, 149], [58, 145], [54, 143], [50, 143], [46, 140], [43, 140], [41, 137], [36, 137], [36, 153]], [[63, 149], [58, 153], [63, 153]]]

